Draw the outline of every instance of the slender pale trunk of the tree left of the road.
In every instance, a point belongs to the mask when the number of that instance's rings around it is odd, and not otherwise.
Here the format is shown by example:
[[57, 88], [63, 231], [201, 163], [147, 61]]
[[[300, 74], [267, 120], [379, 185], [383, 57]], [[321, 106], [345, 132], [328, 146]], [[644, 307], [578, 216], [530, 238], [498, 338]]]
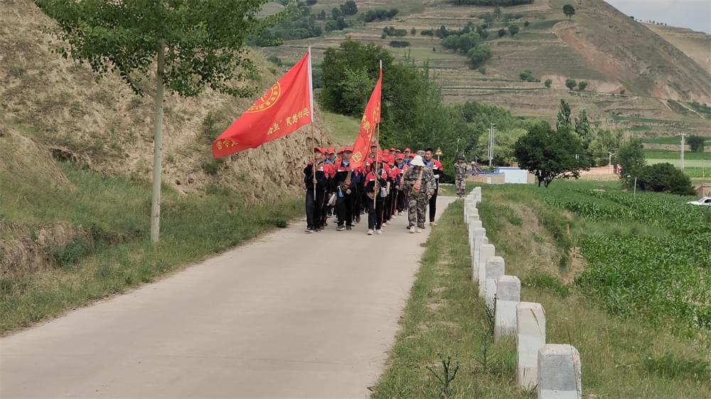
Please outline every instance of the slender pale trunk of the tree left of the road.
[[161, 162], [163, 160], [163, 72], [165, 69], [166, 43], [158, 42], [158, 69], [156, 70], [156, 105], [153, 116], [153, 198], [151, 200], [151, 243], [156, 244], [161, 231]]

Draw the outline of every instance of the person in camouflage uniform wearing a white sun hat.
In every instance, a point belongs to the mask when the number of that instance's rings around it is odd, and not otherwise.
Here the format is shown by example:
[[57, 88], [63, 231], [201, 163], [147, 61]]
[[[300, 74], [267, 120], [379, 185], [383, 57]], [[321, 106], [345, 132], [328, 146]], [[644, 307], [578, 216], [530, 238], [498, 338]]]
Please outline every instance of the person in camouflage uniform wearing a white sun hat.
[[410, 169], [407, 170], [402, 180], [404, 181], [403, 190], [410, 192], [407, 214], [410, 226], [408, 228], [410, 233], [422, 233], [427, 204], [434, 195], [434, 187], [437, 184], [434, 182], [434, 174], [432, 169], [425, 168], [422, 157], [417, 155], [412, 159]]

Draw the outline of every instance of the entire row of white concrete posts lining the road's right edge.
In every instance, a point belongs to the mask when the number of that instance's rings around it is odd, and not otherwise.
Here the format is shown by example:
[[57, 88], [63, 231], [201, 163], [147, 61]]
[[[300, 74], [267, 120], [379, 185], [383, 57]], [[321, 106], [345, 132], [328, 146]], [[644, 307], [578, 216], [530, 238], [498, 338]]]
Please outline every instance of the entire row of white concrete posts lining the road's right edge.
[[464, 200], [464, 222], [469, 229], [471, 276], [479, 296], [494, 310], [494, 339], [515, 335], [518, 367], [516, 381], [536, 388], [539, 399], [582, 398], [580, 354], [571, 345], [546, 344], [545, 310], [540, 303], [521, 302], [521, 282], [506, 275], [506, 265], [489, 244], [479, 219], [481, 187]]

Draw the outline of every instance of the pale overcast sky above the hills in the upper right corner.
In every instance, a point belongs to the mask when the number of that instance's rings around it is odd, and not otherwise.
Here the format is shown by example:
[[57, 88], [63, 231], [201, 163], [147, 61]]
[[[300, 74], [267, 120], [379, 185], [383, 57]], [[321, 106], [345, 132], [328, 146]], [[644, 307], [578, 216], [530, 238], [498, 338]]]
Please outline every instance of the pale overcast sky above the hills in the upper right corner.
[[605, 0], [638, 20], [711, 33], [711, 0]]

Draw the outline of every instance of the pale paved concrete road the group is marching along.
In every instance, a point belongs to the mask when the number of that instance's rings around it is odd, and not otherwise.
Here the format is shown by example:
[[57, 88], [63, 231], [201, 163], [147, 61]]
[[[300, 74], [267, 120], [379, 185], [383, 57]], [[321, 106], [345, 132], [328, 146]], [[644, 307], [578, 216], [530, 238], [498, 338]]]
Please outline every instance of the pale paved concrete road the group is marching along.
[[429, 234], [406, 219], [294, 224], [0, 339], [0, 397], [365, 398]]

